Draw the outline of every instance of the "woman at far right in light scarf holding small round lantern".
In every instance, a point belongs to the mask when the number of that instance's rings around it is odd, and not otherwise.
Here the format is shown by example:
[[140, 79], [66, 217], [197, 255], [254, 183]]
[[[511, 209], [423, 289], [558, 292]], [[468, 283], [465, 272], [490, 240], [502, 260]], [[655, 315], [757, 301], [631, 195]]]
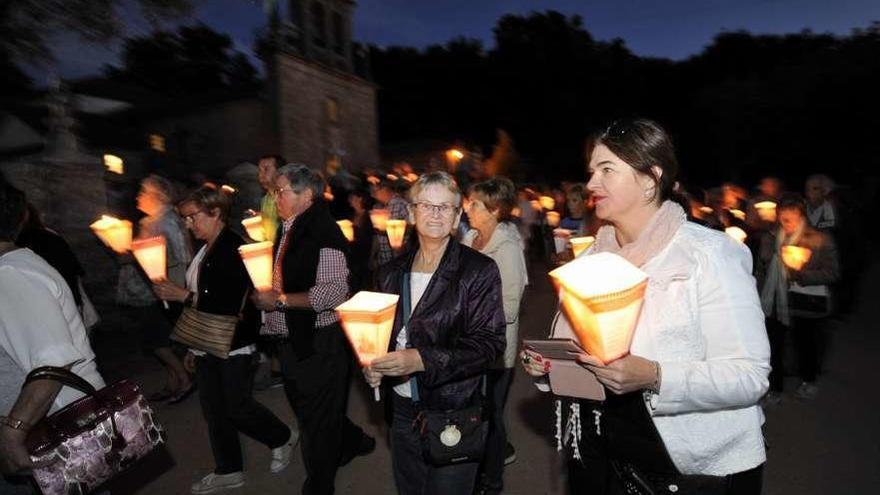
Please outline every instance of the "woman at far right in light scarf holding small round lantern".
[[[831, 314], [830, 286], [840, 279], [840, 261], [834, 239], [810, 226], [801, 198], [783, 197], [777, 207], [779, 228], [761, 239], [755, 275], [761, 291], [761, 304], [767, 316], [773, 371], [766, 405], [782, 401], [785, 338], [793, 329], [801, 384], [795, 391], [799, 399], [813, 399], [819, 391], [819, 338], [822, 322]], [[801, 267], [783, 261], [785, 246], [810, 251]]]

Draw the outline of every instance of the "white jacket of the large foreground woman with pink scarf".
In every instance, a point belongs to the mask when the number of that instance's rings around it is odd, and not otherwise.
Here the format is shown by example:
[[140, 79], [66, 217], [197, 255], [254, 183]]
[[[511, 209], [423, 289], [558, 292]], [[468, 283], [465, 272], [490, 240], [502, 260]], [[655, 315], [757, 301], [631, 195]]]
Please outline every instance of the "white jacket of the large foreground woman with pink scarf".
[[748, 249], [688, 222], [642, 270], [630, 352], [660, 363], [646, 407], [676, 467], [720, 476], [763, 463], [770, 346]]

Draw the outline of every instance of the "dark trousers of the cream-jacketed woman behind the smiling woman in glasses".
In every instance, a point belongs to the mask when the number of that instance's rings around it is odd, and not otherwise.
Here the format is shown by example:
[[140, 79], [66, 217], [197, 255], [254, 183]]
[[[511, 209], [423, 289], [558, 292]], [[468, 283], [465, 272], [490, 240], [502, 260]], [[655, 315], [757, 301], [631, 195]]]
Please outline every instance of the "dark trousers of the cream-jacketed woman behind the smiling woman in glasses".
[[487, 493], [501, 493], [504, 488], [504, 459], [507, 447], [507, 428], [504, 425], [504, 405], [513, 381], [513, 368], [493, 369], [487, 373], [489, 407], [489, 437], [483, 458], [481, 485]]

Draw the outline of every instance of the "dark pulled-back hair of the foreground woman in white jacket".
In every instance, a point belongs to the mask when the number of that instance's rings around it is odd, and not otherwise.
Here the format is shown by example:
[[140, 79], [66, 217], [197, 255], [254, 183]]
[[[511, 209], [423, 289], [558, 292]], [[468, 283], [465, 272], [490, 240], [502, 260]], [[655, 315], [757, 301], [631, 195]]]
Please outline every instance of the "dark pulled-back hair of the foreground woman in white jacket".
[[[604, 145], [637, 172], [654, 181], [654, 200], [666, 201], [676, 198], [678, 160], [672, 138], [660, 124], [648, 119], [617, 120], [590, 137], [587, 141], [587, 162], [596, 146]], [[652, 167], [659, 167], [660, 177]]]

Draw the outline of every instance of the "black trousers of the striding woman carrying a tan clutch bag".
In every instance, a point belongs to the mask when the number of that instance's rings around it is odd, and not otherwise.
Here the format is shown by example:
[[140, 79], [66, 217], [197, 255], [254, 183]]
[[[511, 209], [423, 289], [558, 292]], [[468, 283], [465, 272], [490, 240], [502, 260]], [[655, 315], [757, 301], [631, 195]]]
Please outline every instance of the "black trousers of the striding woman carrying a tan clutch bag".
[[281, 447], [290, 439], [290, 428], [251, 395], [252, 362], [252, 354], [228, 359], [207, 355], [197, 359], [199, 398], [208, 422], [217, 474], [243, 469], [239, 432], [270, 449]]

